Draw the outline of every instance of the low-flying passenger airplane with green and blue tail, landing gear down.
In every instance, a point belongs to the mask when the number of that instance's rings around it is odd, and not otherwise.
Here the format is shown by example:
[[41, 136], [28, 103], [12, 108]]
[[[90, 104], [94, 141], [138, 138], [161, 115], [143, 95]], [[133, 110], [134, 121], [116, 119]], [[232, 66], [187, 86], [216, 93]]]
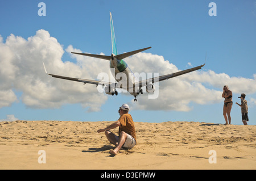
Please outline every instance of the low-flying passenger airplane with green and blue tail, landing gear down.
[[[98, 85], [105, 86], [104, 91], [108, 95], [114, 95], [114, 94], [118, 95], [118, 92], [116, 89], [125, 89], [127, 90], [127, 92], [129, 92], [131, 95], [134, 96], [134, 102], [137, 102], [137, 96], [139, 94], [143, 94], [142, 87], [146, 86], [146, 92], [152, 93], [155, 91], [155, 86], [154, 86], [155, 82], [168, 80], [170, 78], [174, 78], [179, 75], [187, 74], [191, 71], [199, 70], [205, 65], [203, 64], [200, 66], [196, 66], [195, 68], [177, 71], [176, 73], [170, 73], [166, 75], [161, 75], [159, 77], [148, 78], [142, 81], [138, 81], [138, 79], [134, 77], [133, 72], [131, 71], [131, 69], [123, 59], [129, 56], [132, 56], [136, 53], [142, 52], [144, 50], [150, 49], [151, 47], [118, 54], [111, 12], [110, 12], [110, 30], [111, 30], [111, 38], [112, 38], [112, 54], [110, 56], [105, 56], [100, 54], [77, 53], [77, 52], [71, 52], [71, 53], [108, 60], [110, 62], [110, 69], [114, 69], [114, 71], [111, 71], [111, 72], [113, 77], [115, 78], [115, 81], [117, 82], [104, 82], [104, 81], [98, 81], [98, 80], [64, 77], [61, 75], [49, 74], [47, 73], [46, 66], [44, 65], [44, 62], [43, 62], [44, 70], [48, 75], [51, 75], [52, 77], [55, 77], [55, 78], [67, 79], [69, 81], [83, 82], [84, 84], [90, 83], [96, 86]], [[124, 75], [126, 75], [125, 83], [122, 83], [121, 85], [118, 85], [118, 82], [124, 81], [124, 80], [121, 78], [117, 78], [118, 73], [123, 73]]]

